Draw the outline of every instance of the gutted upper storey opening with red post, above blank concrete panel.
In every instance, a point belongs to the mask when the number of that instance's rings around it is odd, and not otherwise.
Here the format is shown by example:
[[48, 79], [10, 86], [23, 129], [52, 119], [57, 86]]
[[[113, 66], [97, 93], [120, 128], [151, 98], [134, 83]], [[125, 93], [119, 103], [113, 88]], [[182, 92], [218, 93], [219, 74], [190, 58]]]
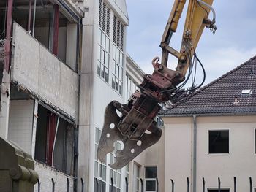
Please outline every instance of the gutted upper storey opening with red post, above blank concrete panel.
[[[3, 2], [3, 1], [1, 1]], [[12, 12], [13, 20], [22, 26], [35, 39], [44, 45], [50, 52], [58, 57], [64, 64], [67, 64], [73, 71], [77, 71], [78, 47], [79, 47], [79, 20], [69, 14], [69, 10], [51, 1], [41, 1], [36, 7], [35, 23], [33, 27], [33, 16], [30, 26], [28, 25], [29, 1], [15, 1]], [[4, 37], [5, 26], [4, 9], [0, 12], [0, 39]], [[34, 31], [33, 31], [34, 30]], [[26, 42], [24, 42], [26, 43]]]

